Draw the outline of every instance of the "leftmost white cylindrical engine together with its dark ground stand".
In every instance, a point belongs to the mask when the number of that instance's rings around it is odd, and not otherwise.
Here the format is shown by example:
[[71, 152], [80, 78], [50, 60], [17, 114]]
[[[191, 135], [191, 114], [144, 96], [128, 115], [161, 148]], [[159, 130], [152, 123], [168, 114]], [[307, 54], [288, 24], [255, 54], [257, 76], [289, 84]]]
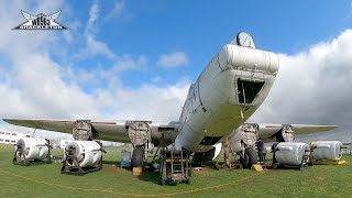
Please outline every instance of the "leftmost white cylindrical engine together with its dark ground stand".
[[[46, 160], [44, 162], [43, 160]], [[51, 146], [46, 139], [23, 138], [15, 143], [13, 164], [31, 165], [33, 163], [51, 163]]]

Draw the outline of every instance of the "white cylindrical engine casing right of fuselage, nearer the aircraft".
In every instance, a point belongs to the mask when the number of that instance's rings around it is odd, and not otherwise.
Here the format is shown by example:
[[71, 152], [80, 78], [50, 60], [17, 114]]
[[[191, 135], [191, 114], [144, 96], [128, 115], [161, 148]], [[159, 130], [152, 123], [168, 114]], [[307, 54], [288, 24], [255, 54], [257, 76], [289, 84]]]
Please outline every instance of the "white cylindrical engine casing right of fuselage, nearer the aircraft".
[[280, 142], [275, 150], [275, 158], [283, 165], [300, 165], [309, 146], [301, 142]]

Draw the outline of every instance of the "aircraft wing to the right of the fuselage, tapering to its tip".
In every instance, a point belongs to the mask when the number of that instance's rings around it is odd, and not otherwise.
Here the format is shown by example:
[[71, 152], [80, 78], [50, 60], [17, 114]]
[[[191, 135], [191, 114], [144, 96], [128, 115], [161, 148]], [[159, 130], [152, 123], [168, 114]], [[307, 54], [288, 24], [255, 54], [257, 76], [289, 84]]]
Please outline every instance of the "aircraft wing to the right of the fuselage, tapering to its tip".
[[330, 131], [338, 125], [315, 125], [315, 124], [265, 124], [258, 123], [258, 134], [261, 138], [272, 138], [283, 130], [292, 129], [295, 135], [318, 133]]

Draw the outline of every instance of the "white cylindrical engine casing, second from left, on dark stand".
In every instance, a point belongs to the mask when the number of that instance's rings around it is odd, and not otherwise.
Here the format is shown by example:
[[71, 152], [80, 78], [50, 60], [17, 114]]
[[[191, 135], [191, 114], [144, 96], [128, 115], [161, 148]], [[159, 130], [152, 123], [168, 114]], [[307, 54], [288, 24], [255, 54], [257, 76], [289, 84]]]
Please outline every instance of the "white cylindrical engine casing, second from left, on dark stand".
[[[80, 167], [94, 166], [101, 160], [101, 146], [95, 141], [73, 141], [65, 147], [65, 155], [76, 157]], [[77, 166], [78, 164], [70, 164]]]

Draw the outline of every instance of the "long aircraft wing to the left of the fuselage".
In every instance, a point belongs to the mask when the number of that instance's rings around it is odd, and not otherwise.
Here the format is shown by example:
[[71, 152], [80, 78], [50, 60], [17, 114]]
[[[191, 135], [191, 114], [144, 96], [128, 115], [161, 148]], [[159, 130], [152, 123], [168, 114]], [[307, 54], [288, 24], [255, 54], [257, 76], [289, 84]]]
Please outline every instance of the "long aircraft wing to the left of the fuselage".
[[[77, 120], [45, 120], [45, 119], [3, 119], [3, 121], [21, 127], [28, 127], [33, 129], [50, 130], [63, 133], [73, 133], [75, 123]], [[98, 140], [105, 141], [116, 141], [131, 143], [129, 136], [128, 125], [134, 121], [91, 121], [81, 120], [87, 122], [91, 127], [91, 131], [97, 136]], [[135, 121], [138, 122], [138, 121]], [[151, 131], [151, 139], [153, 143], [158, 143], [164, 134], [165, 144], [174, 142], [177, 135], [177, 122], [147, 122]]]

